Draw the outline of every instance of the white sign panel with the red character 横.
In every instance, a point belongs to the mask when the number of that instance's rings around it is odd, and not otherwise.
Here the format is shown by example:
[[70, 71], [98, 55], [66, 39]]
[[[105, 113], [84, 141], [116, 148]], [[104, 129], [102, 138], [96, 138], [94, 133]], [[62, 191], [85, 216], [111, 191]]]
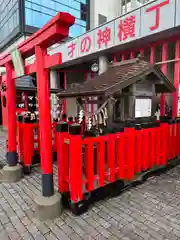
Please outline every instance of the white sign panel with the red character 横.
[[115, 45], [127, 43], [140, 37], [140, 9], [115, 21]]

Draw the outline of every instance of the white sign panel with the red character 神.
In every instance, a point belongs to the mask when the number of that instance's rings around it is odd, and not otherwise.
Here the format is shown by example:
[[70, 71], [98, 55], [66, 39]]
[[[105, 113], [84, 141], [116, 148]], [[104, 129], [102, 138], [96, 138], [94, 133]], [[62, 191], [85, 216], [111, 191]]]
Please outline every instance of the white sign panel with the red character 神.
[[114, 46], [114, 21], [94, 30], [94, 51]]

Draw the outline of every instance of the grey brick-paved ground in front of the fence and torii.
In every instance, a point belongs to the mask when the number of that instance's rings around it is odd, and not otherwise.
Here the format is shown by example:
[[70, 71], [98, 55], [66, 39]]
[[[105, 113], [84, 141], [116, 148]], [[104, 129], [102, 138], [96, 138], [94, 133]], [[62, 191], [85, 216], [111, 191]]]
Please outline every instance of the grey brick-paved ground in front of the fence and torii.
[[[4, 136], [0, 132], [1, 162]], [[180, 167], [95, 204], [81, 217], [64, 211], [60, 218], [46, 222], [34, 216], [33, 198], [41, 190], [40, 182], [37, 168], [18, 183], [0, 184], [0, 240], [180, 239]]]

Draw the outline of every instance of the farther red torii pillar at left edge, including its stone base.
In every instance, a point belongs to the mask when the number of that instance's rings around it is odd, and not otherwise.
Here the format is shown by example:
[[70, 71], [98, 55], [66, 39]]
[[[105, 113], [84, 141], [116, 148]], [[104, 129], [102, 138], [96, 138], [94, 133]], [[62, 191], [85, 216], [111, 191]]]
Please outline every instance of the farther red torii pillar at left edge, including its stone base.
[[22, 166], [18, 164], [16, 151], [16, 86], [11, 62], [6, 65], [7, 78], [7, 111], [8, 111], [8, 141], [7, 165], [2, 170], [3, 182], [16, 182], [22, 177]]

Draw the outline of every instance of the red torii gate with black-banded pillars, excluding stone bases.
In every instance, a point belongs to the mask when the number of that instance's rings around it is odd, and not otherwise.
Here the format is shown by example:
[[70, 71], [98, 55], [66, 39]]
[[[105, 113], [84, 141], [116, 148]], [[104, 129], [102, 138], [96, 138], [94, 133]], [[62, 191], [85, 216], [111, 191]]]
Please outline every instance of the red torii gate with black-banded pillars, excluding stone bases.
[[[18, 46], [23, 60], [35, 54], [32, 65], [25, 66], [25, 74], [37, 74], [37, 92], [40, 125], [40, 153], [42, 168], [42, 194], [50, 197], [54, 194], [52, 167], [52, 136], [49, 100], [48, 70], [62, 64], [61, 53], [53, 56], [47, 54], [47, 48], [69, 36], [69, 28], [75, 18], [68, 13], [58, 13], [42, 29], [38, 30]], [[17, 166], [16, 154], [16, 73], [13, 69], [11, 54], [0, 57], [0, 66], [6, 68], [7, 75], [7, 109], [8, 109], [8, 152], [9, 167]]]

